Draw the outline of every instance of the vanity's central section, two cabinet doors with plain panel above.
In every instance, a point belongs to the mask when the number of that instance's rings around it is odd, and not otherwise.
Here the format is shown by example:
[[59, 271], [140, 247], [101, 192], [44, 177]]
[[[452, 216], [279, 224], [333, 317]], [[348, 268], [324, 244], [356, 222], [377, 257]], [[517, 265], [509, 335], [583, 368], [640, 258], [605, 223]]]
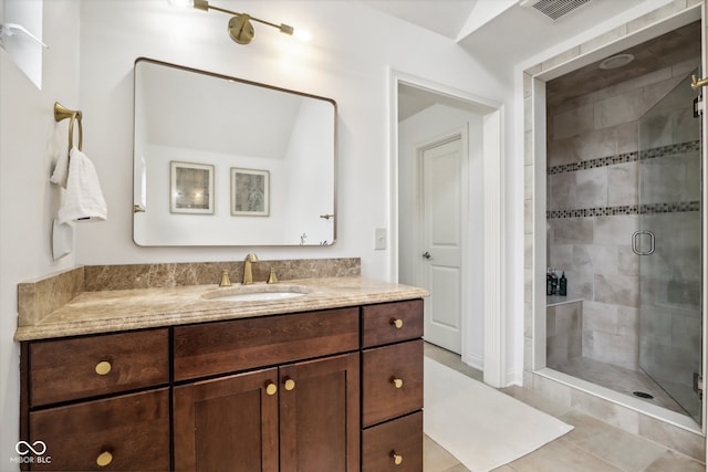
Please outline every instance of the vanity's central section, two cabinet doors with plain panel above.
[[[358, 308], [175, 328], [175, 469], [360, 470]], [[299, 360], [305, 359], [305, 360]]]

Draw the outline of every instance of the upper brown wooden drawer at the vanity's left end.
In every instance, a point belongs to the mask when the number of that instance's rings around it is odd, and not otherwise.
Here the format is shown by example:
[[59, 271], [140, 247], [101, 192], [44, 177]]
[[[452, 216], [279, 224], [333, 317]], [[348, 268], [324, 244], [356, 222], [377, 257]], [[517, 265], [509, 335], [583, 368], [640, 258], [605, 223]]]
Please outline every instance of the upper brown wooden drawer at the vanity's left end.
[[167, 329], [30, 344], [32, 407], [169, 381]]

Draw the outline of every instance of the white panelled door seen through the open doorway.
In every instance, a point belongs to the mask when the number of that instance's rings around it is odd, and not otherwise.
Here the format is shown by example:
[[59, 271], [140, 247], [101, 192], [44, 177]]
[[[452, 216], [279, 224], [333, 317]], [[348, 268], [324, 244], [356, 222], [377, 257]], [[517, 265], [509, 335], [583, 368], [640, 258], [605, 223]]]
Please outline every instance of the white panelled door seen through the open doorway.
[[462, 151], [456, 138], [424, 149], [423, 283], [425, 339], [454, 353], [461, 350], [462, 279]]

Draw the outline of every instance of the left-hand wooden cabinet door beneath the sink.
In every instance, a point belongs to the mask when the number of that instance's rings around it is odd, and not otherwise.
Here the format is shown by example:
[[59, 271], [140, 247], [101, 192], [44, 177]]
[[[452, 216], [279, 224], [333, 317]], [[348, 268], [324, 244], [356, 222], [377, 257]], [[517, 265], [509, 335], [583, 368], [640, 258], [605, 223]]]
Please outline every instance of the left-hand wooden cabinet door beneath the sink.
[[278, 471], [278, 369], [175, 387], [175, 470]]

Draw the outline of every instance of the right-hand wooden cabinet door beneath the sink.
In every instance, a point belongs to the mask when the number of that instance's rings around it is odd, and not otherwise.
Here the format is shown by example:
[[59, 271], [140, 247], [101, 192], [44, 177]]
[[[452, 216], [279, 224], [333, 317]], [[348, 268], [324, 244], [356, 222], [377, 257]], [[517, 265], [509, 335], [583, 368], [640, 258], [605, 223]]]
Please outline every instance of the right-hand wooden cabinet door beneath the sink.
[[280, 368], [280, 470], [360, 469], [358, 354]]

